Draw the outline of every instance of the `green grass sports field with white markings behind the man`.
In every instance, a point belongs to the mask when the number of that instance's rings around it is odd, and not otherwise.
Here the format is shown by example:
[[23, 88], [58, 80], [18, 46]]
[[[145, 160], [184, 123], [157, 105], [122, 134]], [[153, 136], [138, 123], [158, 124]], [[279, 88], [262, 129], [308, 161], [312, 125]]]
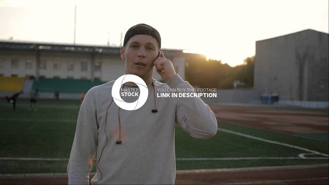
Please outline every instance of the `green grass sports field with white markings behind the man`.
[[[79, 101], [40, 101], [38, 110], [29, 110], [27, 100], [19, 100], [16, 111], [12, 104], [0, 101], [0, 174], [66, 172], [74, 139]], [[328, 143], [303, 139], [218, 122], [225, 131], [276, 141], [303, 149], [328, 154]], [[218, 131], [208, 140], [195, 139], [176, 128], [176, 169], [217, 169], [259, 166], [324, 164], [328, 158], [294, 147]], [[26, 158], [24, 160], [17, 160]], [[49, 161], [31, 158], [56, 158]], [[215, 159], [214, 159], [215, 158]], [[58, 161], [59, 160], [59, 161]], [[93, 168], [95, 170], [95, 165]]]

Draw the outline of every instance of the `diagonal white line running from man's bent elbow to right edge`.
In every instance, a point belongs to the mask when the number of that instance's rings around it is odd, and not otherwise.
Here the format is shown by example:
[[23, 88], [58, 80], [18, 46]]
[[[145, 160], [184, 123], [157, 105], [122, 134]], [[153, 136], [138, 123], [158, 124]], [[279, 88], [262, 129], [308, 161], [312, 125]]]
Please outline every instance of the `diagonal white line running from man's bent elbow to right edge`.
[[311, 153], [314, 153], [314, 154], [319, 154], [319, 155], [329, 157], [328, 154], [323, 154], [323, 153], [320, 153], [320, 152], [317, 152], [317, 151], [305, 149], [303, 147], [299, 147], [299, 146], [295, 146], [295, 145], [291, 145], [291, 144], [286, 144], [286, 143], [282, 143], [282, 142], [278, 142], [278, 141], [263, 139], [263, 138], [259, 138], [259, 137], [255, 137], [255, 136], [250, 136], [250, 135], [247, 135], [247, 134], [242, 134], [242, 133], [226, 130], [224, 128], [218, 128], [218, 131], [223, 131], [223, 132], [226, 132], [226, 133], [235, 134], [235, 135], [238, 135], [238, 136], [242, 136], [242, 137], [246, 137], [246, 138], [250, 138], [250, 139], [255, 139], [255, 140], [259, 140], [259, 141], [263, 141], [263, 142], [268, 142], [268, 143], [272, 143], [272, 144], [279, 144], [279, 145], [282, 145], [282, 146], [287, 146], [287, 147], [291, 147], [291, 148], [294, 148], [294, 149], [298, 149], [298, 150], [311, 152]]

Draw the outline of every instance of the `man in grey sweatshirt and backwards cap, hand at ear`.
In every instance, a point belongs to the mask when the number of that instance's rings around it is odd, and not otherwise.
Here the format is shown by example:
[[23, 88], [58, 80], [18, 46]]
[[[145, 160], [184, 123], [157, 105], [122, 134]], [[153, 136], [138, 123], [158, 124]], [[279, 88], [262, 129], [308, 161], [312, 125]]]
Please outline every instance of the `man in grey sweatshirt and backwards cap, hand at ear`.
[[[192, 89], [175, 73], [160, 48], [160, 34], [149, 25], [138, 24], [126, 32], [121, 47], [125, 73], [147, 84], [148, 99], [137, 110], [118, 107], [111, 94], [114, 81], [87, 92], [67, 167], [69, 184], [88, 183], [96, 151], [93, 184], [173, 184], [175, 124], [195, 138], [207, 139], [216, 134], [216, 118], [200, 98], [156, 98], [155, 91], [161, 88]], [[153, 79], [154, 68], [167, 84]], [[133, 82], [122, 86], [124, 91], [136, 88]]]

